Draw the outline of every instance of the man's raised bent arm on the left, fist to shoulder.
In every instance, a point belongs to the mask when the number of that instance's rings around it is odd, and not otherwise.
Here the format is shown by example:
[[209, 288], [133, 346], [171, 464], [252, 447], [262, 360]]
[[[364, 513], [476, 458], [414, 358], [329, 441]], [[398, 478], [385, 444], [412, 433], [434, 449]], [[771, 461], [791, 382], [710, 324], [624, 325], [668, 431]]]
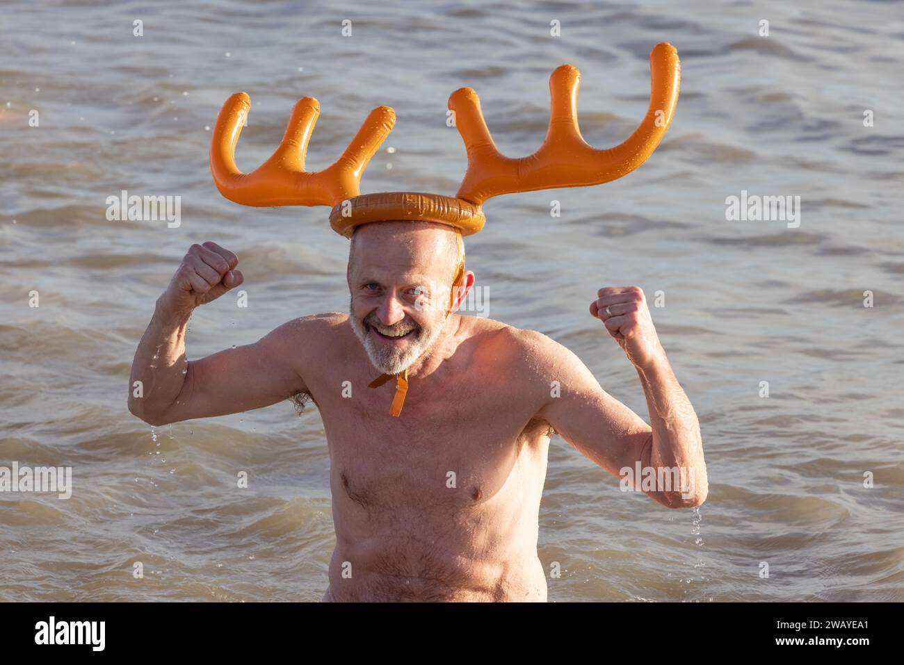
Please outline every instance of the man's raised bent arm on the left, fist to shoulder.
[[146, 423], [223, 416], [306, 392], [290, 360], [303, 348], [306, 319], [284, 323], [253, 344], [186, 359], [185, 329], [193, 308], [241, 283], [241, 273], [232, 269], [236, 264], [238, 258], [215, 243], [193, 245], [157, 300], [129, 379], [128, 409]]

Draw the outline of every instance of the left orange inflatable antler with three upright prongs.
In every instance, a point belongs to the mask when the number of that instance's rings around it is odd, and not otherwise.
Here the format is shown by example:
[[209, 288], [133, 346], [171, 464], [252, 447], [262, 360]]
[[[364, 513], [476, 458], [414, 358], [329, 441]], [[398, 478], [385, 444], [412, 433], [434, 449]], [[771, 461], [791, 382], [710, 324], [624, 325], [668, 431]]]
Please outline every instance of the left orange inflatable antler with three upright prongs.
[[307, 142], [320, 115], [320, 104], [306, 97], [292, 109], [277, 151], [258, 169], [241, 173], [235, 164], [235, 146], [250, 108], [250, 97], [244, 92], [227, 99], [211, 143], [211, 171], [217, 189], [227, 199], [250, 206], [334, 206], [357, 196], [364, 167], [395, 124], [395, 111], [390, 107], [374, 108], [339, 159], [323, 171], [308, 173]]

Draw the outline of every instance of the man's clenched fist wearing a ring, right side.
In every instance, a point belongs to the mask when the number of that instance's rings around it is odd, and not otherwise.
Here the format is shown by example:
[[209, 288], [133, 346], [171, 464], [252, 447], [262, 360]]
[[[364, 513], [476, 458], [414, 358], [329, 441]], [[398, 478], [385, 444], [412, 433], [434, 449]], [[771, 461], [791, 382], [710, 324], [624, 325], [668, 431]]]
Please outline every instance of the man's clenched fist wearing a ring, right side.
[[597, 295], [590, 303], [590, 314], [603, 322], [635, 367], [652, 367], [665, 359], [640, 286], [607, 286]]

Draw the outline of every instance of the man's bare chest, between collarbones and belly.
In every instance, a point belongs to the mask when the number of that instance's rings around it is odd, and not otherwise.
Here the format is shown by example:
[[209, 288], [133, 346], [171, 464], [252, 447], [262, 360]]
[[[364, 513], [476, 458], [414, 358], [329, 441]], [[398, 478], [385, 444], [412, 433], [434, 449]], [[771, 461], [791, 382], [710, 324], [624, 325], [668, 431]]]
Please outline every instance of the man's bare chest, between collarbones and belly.
[[454, 521], [528, 488], [539, 500], [549, 427], [512, 389], [480, 377], [419, 388], [412, 380], [400, 417], [394, 382], [322, 405], [334, 504], [369, 520]]

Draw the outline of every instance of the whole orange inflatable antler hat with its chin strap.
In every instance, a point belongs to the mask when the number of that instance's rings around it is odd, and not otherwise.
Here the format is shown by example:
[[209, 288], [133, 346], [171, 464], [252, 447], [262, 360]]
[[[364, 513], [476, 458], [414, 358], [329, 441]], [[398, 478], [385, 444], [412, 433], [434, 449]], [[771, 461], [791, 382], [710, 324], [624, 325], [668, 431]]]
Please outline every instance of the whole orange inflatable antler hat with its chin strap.
[[[251, 173], [235, 164], [235, 146], [251, 108], [247, 93], [226, 100], [217, 118], [211, 142], [211, 171], [220, 193], [249, 206], [326, 205], [330, 226], [345, 238], [356, 227], [374, 221], [434, 221], [469, 236], [484, 228], [483, 203], [501, 194], [534, 192], [558, 187], [608, 183], [634, 171], [653, 154], [672, 122], [681, 82], [681, 63], [672, 44], [656, 44], [650, 53], [650, 106], [644, 120], [625, 142], [598, 150], [580, 136], [578, 127], [579, 70], [570, 64], [550, 76], [550, 124], [543, 145], [533, 155], [513, 159], [496, 149], [471, 88], [457, 89], [448, 100], [467, 150], [467, 171], [454, 197], [421, 192], [362, 194], [361, 175], [395, 124], [390, 107], [374, 108], [339, 159], [323, 171], [305, 170], [307, 142], [314, 131], [320, 104], [313, 97], [292, 109], [286, 134], [276, 152]], [[460, 256], [460, 253], [459, 253]], [[453, 280], [453, 294], [464, 264]], [[450, 305], [451, 306], [451, 305]], [[372, 388], [392, 375], [381, 375]], [[408, 389], [407, 370], [398, 375], [391, 415], [398, 416]]]

